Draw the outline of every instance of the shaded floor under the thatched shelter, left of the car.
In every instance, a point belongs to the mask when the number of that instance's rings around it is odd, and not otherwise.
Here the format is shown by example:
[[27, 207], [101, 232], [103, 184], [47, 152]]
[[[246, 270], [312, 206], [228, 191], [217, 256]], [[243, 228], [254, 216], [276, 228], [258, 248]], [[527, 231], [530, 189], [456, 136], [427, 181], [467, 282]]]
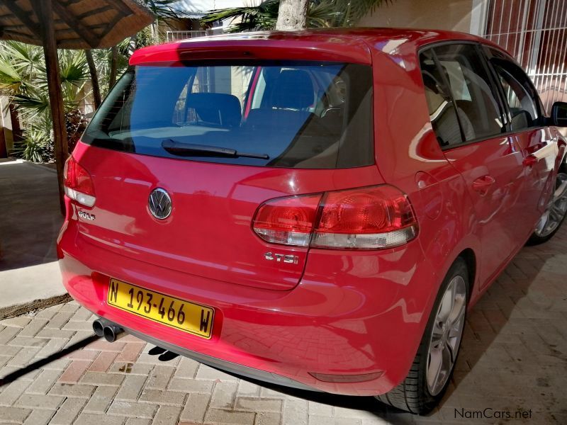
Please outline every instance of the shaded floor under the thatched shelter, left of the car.
[[55, 170], [0, 162], [0, 195], [0, 271], [57, 261], [63, 217]]

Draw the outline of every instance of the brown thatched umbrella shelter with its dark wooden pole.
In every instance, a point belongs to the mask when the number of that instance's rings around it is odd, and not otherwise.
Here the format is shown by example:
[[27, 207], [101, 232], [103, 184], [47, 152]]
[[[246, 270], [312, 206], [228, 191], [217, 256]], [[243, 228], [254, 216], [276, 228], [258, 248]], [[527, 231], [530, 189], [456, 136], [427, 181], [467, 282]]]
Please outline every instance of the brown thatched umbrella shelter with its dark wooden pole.
[[62, 212], [63, 166], [69, 152], [57, 49], [111, 47], [153, 20], [135, 0], [0, 0], [0, 39], [43, 46]]

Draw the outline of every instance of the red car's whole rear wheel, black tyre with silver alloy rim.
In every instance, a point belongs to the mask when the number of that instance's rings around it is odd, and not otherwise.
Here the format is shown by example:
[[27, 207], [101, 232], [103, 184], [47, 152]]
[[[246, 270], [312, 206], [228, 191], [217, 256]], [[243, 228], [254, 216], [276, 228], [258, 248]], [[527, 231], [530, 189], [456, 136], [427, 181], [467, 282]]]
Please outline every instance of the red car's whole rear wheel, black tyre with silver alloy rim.
[[[377, 395], [376, 399], [413, 414], [427, 414], [437, 406], [449, 386], [459, 354], [468, 289], [468, 270], [464, 259], [459, 257], [449, 268], [439, 289], [408, 376], [393, 390]], [[447, 321], [444, 321], [445, 316]], [[441, 364], [437, 371], [439, 358]], [[445, 367], [444, 361], [447, 361]]]

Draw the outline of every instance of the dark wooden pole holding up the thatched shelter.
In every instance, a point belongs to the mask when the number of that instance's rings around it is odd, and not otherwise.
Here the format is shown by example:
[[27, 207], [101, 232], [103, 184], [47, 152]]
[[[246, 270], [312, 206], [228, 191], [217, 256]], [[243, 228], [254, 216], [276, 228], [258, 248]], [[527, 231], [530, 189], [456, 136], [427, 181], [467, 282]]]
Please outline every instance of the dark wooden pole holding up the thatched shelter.
[[35, 10], [40, 21], [43, 39], [43, 52], [45, 54], [45, 70], [47, 72], [47, 88], [51, 118], [53, 121], [53, 138], [55, 142], [55, 164], [57, 165], [57, 183], [59, 184], [59, 197], [61, 213], [65, 213], [63, 167], [69, 156], [67, 145], [67, 128], [65, 127], [65, 111], [63, 108], [63, 95], [61, 87], [61, 74], [57, 60], [57, 42], [53, 26], [52, 0], [34, 1]]

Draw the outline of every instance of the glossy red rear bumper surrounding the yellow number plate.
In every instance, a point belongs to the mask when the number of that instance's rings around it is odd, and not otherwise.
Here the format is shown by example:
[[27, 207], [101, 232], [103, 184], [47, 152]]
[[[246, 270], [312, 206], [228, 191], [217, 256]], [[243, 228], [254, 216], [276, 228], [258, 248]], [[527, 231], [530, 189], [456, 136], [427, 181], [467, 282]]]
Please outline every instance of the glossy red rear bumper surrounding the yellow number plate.
[[[378, 395], [405, 378], [439, 285], [417, 241], [379, 254], [312, 249], [301, 283], [288, 291], [118, 256], [87, 242], [73, 220], [64, 223], [57, 248], [69, 294], [142, 339], [251, 378], [344, 395]], [[110, 277], [214, 307], [212, 338], [108, 305]], [[323, 382], [310, 373], [381, 375]]]

